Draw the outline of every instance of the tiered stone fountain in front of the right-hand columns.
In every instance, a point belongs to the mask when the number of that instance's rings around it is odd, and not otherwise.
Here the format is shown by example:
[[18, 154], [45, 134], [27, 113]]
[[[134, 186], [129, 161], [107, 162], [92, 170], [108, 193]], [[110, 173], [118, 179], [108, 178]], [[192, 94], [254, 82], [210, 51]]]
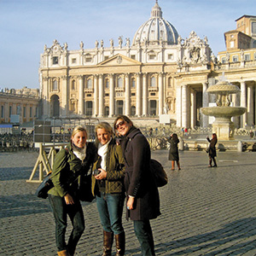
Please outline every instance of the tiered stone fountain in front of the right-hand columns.
[[247, 108], [231, 107], [230, 94], [240, 92], [238, 86], [224, 79], [224, 75], [222, 80], [207, 89], [207, 93], [216, 95], [216, 106], [201, 108], [201, 113], [215, 117], [212, 123], [212, 133], [217, 134], [218, 140], [234, 140], [235, 125], [231, 117], [240, 116], [247, 111]]

